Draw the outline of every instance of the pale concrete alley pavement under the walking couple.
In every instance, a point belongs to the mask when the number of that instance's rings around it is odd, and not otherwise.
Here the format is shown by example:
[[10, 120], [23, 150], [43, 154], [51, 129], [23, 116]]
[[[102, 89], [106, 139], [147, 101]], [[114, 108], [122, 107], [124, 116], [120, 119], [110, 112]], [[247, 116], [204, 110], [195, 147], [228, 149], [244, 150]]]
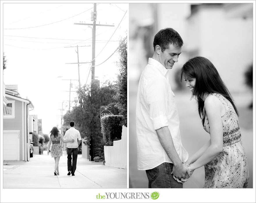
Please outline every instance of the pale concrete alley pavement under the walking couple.
[[54, 158], [33, 155], [30, 161], [3, 162], [3, 188], [127, 188], [127, 170], [104, 166], [103, 162], [77, 157], [75, 176], [67, 175], [67, 155], [59, 162], [60, 175], [54, 175]]

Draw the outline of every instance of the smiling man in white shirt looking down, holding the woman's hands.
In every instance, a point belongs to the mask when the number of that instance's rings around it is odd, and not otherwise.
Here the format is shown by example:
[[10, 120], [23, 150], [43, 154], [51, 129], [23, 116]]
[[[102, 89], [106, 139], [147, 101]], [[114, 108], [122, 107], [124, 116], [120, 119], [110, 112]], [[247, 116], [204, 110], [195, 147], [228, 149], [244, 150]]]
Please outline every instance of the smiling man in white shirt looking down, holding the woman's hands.
[[[181, 143], [179, 116], [168, 73], [182, 50], [183, 41], [172, 28], [154, 37], [154, 54], [143, 70], [136, 103], [138, 170], [145, 170], [149, 188], [183, 188], [191, 175], [188, 153]], [[177, 181], [173, 178], [177, 177]]]

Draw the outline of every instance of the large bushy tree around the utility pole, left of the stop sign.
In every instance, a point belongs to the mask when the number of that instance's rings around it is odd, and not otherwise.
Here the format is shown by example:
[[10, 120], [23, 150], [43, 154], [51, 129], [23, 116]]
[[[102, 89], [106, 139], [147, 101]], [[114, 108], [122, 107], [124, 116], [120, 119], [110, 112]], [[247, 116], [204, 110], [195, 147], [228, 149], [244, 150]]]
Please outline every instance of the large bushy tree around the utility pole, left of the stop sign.
[[[79, 130], [81, 137], [86, 140], [85, 144], [91, 144], [90, 153], [93, 160], [96, 156], [102, 156], [104, 151], [100, 128], [100, 105], [116, 102], [113, 98], [115, 90], [113, 85], [107, 81], [102, 84], [101, 88], [96, 83], [93, 83], [91, 87], [83, 86], [77, 91], [77, 94], [77, 106], [63, 116], [63, 126], [66, 128], [70, 121], [75, 122], [75, 127]], [[111, 111], [113, 114], [119, 113], [115, 107]], [[63, 130], [65, 130], [64, 128]]]

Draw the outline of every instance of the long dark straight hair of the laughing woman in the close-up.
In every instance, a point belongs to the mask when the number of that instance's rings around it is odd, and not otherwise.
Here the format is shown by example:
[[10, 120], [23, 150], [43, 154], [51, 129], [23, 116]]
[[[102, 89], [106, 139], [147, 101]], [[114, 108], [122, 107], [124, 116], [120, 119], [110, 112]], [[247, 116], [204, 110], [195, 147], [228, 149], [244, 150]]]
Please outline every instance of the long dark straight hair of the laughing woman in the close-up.
[[[228, 91], [226, 85], [222, 81], [218, 71], [214, 65], [205, 57], [194, 57], [189, 59], [181, 69], [181, 80], [182, 77], [195, 78], [195, 87], [192, 92], [198, 102], [198, 113], [202, 118], [205, 103], [202, 100], [204, 94], [218, 93], [223, 95], [230, 101], [237, 115], [237, 107]], [[192, 98], [191, 97], [191, 98]]]

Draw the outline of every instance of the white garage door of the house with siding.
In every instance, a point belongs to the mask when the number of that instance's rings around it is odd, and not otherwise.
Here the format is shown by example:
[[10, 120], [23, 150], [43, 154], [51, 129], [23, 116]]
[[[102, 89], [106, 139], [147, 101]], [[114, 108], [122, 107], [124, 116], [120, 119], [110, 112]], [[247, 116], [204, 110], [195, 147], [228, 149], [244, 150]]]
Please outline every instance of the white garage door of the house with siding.
[[3, 131], [3, 160], [19, 160], [19, 131]]

